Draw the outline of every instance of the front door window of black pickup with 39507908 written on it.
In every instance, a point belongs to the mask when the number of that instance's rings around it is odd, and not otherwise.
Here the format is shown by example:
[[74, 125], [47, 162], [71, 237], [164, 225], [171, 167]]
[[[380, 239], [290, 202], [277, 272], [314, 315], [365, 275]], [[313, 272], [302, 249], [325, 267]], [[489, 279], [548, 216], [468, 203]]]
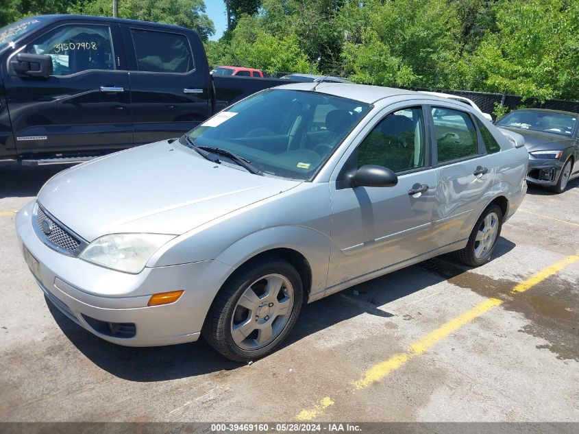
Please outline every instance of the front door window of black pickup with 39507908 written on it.
[[110, 29], [104, 25], [63, 25], [34, 40], [23, 52], [48, 54], [53, 75], [114, 69]]

